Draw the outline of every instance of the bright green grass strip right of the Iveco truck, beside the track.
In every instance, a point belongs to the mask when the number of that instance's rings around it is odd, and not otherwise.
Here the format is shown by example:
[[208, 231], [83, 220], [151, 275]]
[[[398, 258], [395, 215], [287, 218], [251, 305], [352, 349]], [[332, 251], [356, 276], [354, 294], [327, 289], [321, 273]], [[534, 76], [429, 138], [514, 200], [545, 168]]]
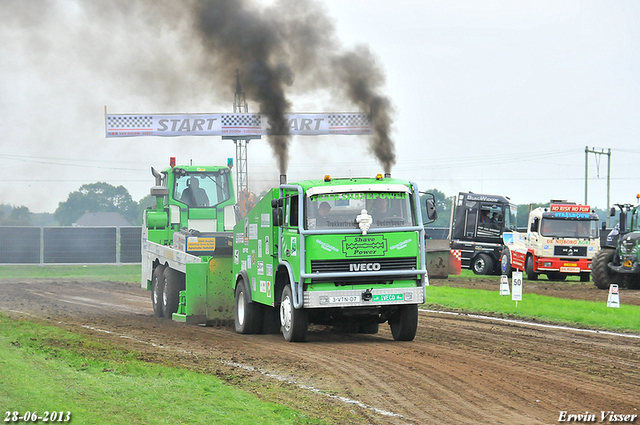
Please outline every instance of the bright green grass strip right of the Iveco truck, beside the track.
[[525, 290], [516, 307], [511, 296], [500, 296], [497, 290], [429, 286], [425, 305], [468, 313], [498, 313], [597, 329], [640, 332], [640, 306], [625, 305], [624, 302], [620, 308], [611, 308], [606, 302], [527, 294]]

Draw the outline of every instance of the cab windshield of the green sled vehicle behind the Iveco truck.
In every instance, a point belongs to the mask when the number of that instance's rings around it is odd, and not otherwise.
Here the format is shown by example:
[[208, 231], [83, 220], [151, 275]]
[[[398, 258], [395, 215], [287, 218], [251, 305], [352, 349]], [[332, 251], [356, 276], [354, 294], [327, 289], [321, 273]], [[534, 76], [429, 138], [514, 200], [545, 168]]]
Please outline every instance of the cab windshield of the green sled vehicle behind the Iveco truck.
[[192, 208], [208, 208], [231, 197], [228, 174], [219, 172], [187, 173], [176, 176], [173, 198]]

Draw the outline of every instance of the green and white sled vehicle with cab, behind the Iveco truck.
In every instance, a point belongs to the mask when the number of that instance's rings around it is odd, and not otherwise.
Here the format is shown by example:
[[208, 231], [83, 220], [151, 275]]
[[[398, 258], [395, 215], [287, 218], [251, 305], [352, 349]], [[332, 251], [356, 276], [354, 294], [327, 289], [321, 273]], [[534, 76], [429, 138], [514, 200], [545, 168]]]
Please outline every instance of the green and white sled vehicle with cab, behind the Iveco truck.
[[175, 165], [151, 169], [156, 205], [142, 226], [142, 282], [154, 314], [188, 323], [233, 318], [232, 229], [236, 223], [228, 167]]

